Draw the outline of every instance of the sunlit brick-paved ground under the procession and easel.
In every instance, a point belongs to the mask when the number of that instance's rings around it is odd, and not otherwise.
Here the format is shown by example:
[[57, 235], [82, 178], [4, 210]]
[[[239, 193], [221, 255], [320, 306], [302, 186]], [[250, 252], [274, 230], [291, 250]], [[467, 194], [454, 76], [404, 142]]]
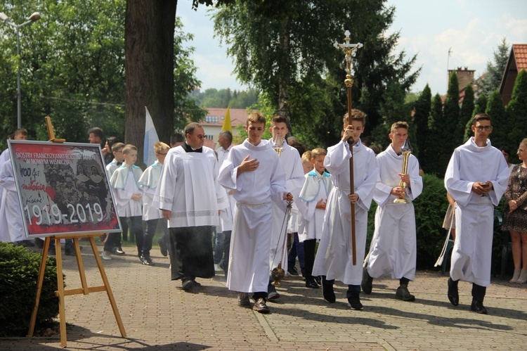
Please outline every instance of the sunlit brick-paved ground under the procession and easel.
[[[102, 282], [93, 255], [83, 250], [89, 286]], [[102, 247], [100, 247], [102, 249]], [[134, 248], [128, 248], [132, 253]], [[169, 260], [152, 250], [155, 267], [134, 255], [114, 256], [105, 271], [117, 300], [126, 338], [121, 338], [105, 293], [65, 298], [67, 350], [526, 350], [527, 284], [493, 279], [488, 315], [470, 312], [471, 286], [460, 282], [460, 305], [446, 298], [439, 272], [418, 272], [410, 283], [415, 302], [394, 298], [398, 281], [376, 279], [372, 295], [361, 295], [364, 310], [347, 307], [346, 288], [336, 283], [337, 302], [321, 289], [289, 277], [268, 302], [271, 314], [238, 307], [223, 274], [197, 279], [202, 288], [181, 291], [170, 281]], [[64, 260], [67, 288], [79, 288], [74, 257]], [[54, 350], [60, 336], [0, 338], [0, 350]]]

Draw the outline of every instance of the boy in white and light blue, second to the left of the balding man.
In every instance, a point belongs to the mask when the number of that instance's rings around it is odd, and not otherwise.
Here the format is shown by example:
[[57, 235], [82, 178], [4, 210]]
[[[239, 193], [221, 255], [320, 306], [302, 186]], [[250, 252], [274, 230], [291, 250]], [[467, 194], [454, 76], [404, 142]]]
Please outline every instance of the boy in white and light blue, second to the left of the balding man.
[[[127, 144], [122, 149], [124, 163], [115, 170], [110, 178], [110, 185], [114, 189], [117, 215], [121, 223], [130, 221], [131, 231], [134, 232], [137, 245], [137, 256], [141, 257], [143, 251], [143, 223], [141, 216], [141, 189], [139, 189], [139, 179], [143, 171], [136, 166], [137, 148]], [[109, 243], [112, 236], [105, 243], [103, 259], [111, 260], [111, 252], [108, 249], [115, 247], [115, 243]], [[141, 262], [143, 262], [141, 260]]]

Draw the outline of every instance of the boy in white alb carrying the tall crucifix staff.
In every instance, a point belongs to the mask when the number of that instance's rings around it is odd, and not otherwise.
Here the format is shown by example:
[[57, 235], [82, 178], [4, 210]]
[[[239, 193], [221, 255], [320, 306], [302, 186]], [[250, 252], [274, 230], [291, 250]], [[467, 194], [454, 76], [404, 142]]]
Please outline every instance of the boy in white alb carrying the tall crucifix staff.
[[[344, 134], [341, 141], [327, 149], [324, 167], [332, 174], [333, 189], [327, 199], [326, 215], [313, 275], [322, 276], [324, 300], [333, 303], [334, 279], [348, 286], [346, 298], [352, 309], [362, 309], [360, 281], [367, 231], [367, 211], [372, 203], [377, 181], [375, 153], [360, 141], [366, 115], [351, 110], [344, 115]], [[349, 162], [353, 161], [353, 187], [350, 187]], [[351, 203], [355, 208], [356, 262], [353, 265], [351, 245]]]

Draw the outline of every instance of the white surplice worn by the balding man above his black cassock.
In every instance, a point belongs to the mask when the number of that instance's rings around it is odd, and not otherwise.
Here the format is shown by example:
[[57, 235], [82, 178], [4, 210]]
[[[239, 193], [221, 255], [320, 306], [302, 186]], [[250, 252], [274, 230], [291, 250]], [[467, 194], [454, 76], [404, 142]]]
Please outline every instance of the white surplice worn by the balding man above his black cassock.
[[203, 146], [202, 153], [171, 148], [163, 162], [160, 183], [152, 206], [171, 211], [169, 228], [217, 226], [218, 210], [228, 206], [214, 172], [216, 155]]

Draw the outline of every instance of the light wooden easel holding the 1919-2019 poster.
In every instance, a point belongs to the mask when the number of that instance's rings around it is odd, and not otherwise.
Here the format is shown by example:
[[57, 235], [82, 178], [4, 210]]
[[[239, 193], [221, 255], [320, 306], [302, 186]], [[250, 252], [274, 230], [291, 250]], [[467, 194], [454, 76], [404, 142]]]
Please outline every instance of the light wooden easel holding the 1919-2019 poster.
[[[56, 143], [65, 142], [65, 139], [55, 138], [55, 134], [53, 133], [53, 127], [51, 125], [51, 119], [49, 117], [46, 117], [46, 127], [48, 128], [48, 134], [50, 138], [49, 141], [53, 141]], [[115, 315], [115, 320], [117, 321], [117, 326], [119, 326], [119, 331], [121, 332], [121, 336], [123, 338], [126, 337], [126, 331], [124, 331], [124, 326], [122, 324], [121, 315], [119, 314], [119, 309], [117, 309], [117, 304], [115, 303], [115, 298], [113, 296], [112, 289], [110, 288], [110, 283], [108, 283], [108, 277], [106, 276], [106, 273], [104, 271], [103, 261], [100, 260], [97, 245], [95, 243], [95, 240], [93, 239], [93, 237], [100, 236], [101, 234], [102, 233], [77, 233], [77, 234], [64, 235], [64, 236], [60, 235], [60, 236], [47, 236], [46, 237], [46, 239], [44, 240], [44, 248], [42, 250], [42, 260], [40, 263], [39, 280], [37, 283], [37, 298], [36, 298], [33, 313], [31, 316], [30, 331], [27, 333], [28, 336], [30, 337], [33, 336], [35, 322], [37, 321], [37, 312], [39, 310], [39, 301], [40, 301], [40, 294], [42, 291], [42, 283], [44, 282], [44, 273], [46, 272], [46, 258], [48, 257], [49, 244], [51, 243], [51, 240], [53, 239], [55, 240], [56, 259], [57, 259], [58, 290], [55, 291], [55, 295], [58, 296], [58, 316], [60, 320], [60, 346], [66, 347], [67, 345], [66, 314], [65, 314], [65, 304], [64, 304], [64, 297], [67, 295], [80, 295], [80, 294], [88, 295], [89, 293], [98, 293], [100, 291], [106, 291], [106, 293], [108, 294], [108, 299], [110, 300], [110, 305], [112, 305], [113, 314]], [[88, 283], [86, 282], [86, 274], [84, 273], [84, 264], [82, 262], [81, 249], [79, 246], [79, 238], [89, 239], [91, 250], [93, 251], [93, 256], [95, 257], [95, 260], [97, 262], [97, 267], [99, 268], [100, 277], [103, 279], [102, 286], [89, 287]], [[60, 250], [60, 239], [72, 239], [73, 240], [75, 258], [77, 259], [77, 267], [79, 268], [79, 275], [81, 278], [82, 288], [64, 290], [63, 259], [62, 259], [62, 252]]]

